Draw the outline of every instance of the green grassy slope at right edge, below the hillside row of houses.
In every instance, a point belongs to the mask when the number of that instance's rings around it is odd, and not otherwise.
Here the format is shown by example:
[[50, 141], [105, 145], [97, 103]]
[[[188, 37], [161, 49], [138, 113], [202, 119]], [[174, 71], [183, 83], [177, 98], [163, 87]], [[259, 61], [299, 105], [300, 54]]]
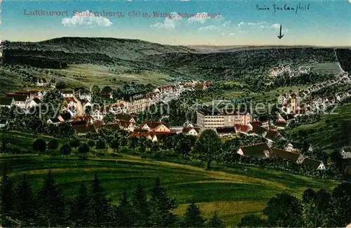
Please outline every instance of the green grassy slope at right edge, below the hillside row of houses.
[[[293, 128], [289, 133], [298, 133], [300, 130], [314, 130], [314, 133], [309, 133], [305, 137], [305, 140], [314, 145], [314, 147], [321, 147], [322, 149], [329, 150], [342, 147], [345, 142], [340, 141], [340, 134], [344, 136], [345, 133], [347, 134], [350, 132], [350, 129], [345, 132], [343, 128], [345, 128], [345, 122], [351, 122], [351, 104], [337, 107], [333, 113], [330, 112], [331, 111], [329, 111], [329, 114], [324, 114], [322, 119], [317, 123]], [[336, 124], [337, 127], [334, 127], [334, 124]], [[320, 129], [322, 129], [322, 131]]]

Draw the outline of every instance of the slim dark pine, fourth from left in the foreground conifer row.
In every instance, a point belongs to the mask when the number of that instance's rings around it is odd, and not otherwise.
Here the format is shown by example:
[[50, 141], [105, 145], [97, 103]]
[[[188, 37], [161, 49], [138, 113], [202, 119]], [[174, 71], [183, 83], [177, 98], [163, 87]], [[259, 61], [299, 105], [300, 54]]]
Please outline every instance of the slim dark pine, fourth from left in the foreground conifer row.
[[91, 222], [91, 207], [88, 196], [88, 189], [81, 182], [78, 189], [78, 195], [74, 199], [71, 211], [69, 214], [69, 219], [73, 222], [74, 227], [88, 227]]

